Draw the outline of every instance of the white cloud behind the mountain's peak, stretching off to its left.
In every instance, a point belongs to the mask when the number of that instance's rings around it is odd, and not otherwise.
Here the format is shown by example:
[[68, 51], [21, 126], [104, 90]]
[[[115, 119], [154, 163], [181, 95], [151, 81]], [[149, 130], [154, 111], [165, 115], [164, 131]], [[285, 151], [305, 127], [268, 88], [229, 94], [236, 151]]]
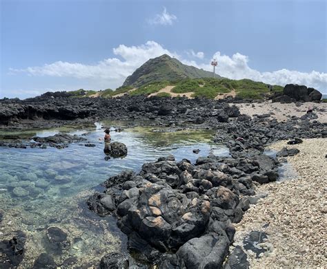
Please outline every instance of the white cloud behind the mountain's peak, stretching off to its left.
[[104, 87], [112, 87], [115, 89], [121, 86], [126, 77], [132, 74], [137, 67], [150, 58], [155, 58], [162, 54], [168, 54], [172, 57], [179, 58], [176, 53], [164, 49], [164, 47], [155, 41], [148, 41], [143, 45], [131, 47], [119, 45], [113, 49], [113, 52], [116, 56], [123, 58], [123, 60], [121, 61], [119, 58], [107, 58], [93, 65], [57, 61], [42, 66], [27, 67], [26, 69], [10, 68], [9, 71], [10, 74], [24, 72], [30, 76], [90, 79], [97, 81], [94, 85], [107, 85]]

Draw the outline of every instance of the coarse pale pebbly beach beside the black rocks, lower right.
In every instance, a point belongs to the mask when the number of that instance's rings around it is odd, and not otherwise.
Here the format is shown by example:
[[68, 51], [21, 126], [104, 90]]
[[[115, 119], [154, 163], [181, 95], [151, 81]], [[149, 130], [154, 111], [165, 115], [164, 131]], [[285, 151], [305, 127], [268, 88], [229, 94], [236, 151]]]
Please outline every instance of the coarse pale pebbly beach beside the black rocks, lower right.
[[327, 268], [327, 141], [306, 139], [293, 146], [280, 141], [270, 149], [286, 146], [300, 151], [287, 158], [297, 176], [257, 187], [257, 193], [268, 195], [236, 225], [234, 245], [241, 245], [251, 230], [259, 230], [268, 235], [268, 251], [259, 259], [247, 252], [250, 268]]

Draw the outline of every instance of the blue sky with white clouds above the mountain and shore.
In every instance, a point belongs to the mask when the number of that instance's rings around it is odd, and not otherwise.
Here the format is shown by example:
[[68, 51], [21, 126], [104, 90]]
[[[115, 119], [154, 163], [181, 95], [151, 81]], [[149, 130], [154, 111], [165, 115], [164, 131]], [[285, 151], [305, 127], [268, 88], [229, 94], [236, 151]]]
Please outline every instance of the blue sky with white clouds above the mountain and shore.
[[161, 54], [327, 93], [327, 0], [0, 0], [0, 98], [116, 89]]

